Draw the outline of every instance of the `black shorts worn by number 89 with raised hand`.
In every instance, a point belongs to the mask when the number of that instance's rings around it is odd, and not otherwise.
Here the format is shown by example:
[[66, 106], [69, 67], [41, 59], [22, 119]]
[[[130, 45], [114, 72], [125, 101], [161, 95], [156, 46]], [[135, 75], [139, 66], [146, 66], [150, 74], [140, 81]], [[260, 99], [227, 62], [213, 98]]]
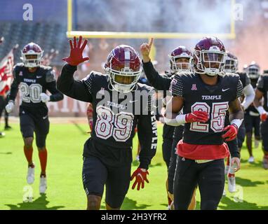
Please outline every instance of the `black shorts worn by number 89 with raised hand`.
[[120, 208], [128, 193], [131, 163], [122, 167], [111, 167], [94, 156], [83, 158], [83, 188], [86, 195], [102, 197], [106, 190], [105, 202], [113, 209]]

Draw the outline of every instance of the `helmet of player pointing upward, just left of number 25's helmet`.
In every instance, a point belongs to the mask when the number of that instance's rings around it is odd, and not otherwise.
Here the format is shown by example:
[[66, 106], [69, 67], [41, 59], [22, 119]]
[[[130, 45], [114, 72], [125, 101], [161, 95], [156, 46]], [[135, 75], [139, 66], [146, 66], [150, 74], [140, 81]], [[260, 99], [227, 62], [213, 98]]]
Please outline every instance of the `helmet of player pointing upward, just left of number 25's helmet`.
[[[190, 52], [185, 46], [175, 48], [168, 57], [170, 58], [170, 69], [172, 71], [190, 71], [192, 52]], [[185, 58], [187, 59], [187, 62], [176, 62], [178, 58]]]

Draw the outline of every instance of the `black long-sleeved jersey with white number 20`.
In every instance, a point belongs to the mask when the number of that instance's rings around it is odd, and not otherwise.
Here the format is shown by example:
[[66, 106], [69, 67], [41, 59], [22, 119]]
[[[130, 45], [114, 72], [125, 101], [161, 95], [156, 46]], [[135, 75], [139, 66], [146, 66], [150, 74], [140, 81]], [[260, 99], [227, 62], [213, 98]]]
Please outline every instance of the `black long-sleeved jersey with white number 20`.
[[41, 102], [40, 97], [46, 90], [51, 92], [51, 102], [63, 99], [63, 94], [56, 89], [55, 73], [50, 66], [39, 66], [32, 73], [22, 63], [18, 63], [14, 66], [13, 78], [9, 99], [14, 101], [20, 89], [22, 107], [46, 107], [46, 103]]

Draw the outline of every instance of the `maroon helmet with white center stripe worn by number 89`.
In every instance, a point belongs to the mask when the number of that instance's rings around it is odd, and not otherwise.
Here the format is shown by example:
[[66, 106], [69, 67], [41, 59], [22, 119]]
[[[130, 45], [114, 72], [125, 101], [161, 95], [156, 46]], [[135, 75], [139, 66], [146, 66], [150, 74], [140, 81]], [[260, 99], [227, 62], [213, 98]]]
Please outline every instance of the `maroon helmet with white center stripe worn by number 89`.
[[118, 92], [130, 92], [142, 73], [142, 61], [138, 52], [129, 45], [119, 45], [107, 57], [105, 71], [109, 83]]

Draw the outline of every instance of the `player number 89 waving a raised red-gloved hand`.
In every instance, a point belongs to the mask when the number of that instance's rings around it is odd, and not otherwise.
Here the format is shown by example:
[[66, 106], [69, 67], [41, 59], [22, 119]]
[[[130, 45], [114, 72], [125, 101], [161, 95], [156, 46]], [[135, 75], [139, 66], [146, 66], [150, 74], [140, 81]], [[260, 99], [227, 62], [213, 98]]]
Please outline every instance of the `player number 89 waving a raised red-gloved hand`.
[[[83, 148], [87, 209], [100, 209], [104, 187], [106, 208], [120, 209], [130, 180], [135, 179], [132, 188], [138, 186], [138, 190], [144, 188], [145, 181], [149, 183], [148, 167], [157, 144], [156, 119], [150, 100], [152, 88], [138, 83], [141, 60], [128, 45], [119, 45], [109, 53], [105, 64], [107, 74], [91, 71], [83, 80], [74, 80], [77, 65], [88, 60], [82, 56], [87, 41], [81, 42], [81, 36], [78, 43], [75, 37], [70, 41], [71, 52], [64, 59], [67, 64], [62, 68], [57, 87], [69, 97], [93, 104], [93, 130]], [[140, 91], [145, 94], [139, 96]], [[132, 140], [137, 124], [140, 165], [130, 178]]]

